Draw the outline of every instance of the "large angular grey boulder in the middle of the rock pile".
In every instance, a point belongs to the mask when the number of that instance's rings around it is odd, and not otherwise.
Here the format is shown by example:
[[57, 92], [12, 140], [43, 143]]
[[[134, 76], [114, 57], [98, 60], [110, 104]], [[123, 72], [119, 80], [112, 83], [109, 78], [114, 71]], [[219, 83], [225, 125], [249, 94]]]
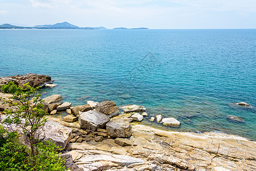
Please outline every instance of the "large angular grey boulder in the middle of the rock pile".
[[81, 112], [79, 115], [80, 128], [96, 131], [97, 128], [104, 128], [109, 121], [109, 117], [97, 111]]

